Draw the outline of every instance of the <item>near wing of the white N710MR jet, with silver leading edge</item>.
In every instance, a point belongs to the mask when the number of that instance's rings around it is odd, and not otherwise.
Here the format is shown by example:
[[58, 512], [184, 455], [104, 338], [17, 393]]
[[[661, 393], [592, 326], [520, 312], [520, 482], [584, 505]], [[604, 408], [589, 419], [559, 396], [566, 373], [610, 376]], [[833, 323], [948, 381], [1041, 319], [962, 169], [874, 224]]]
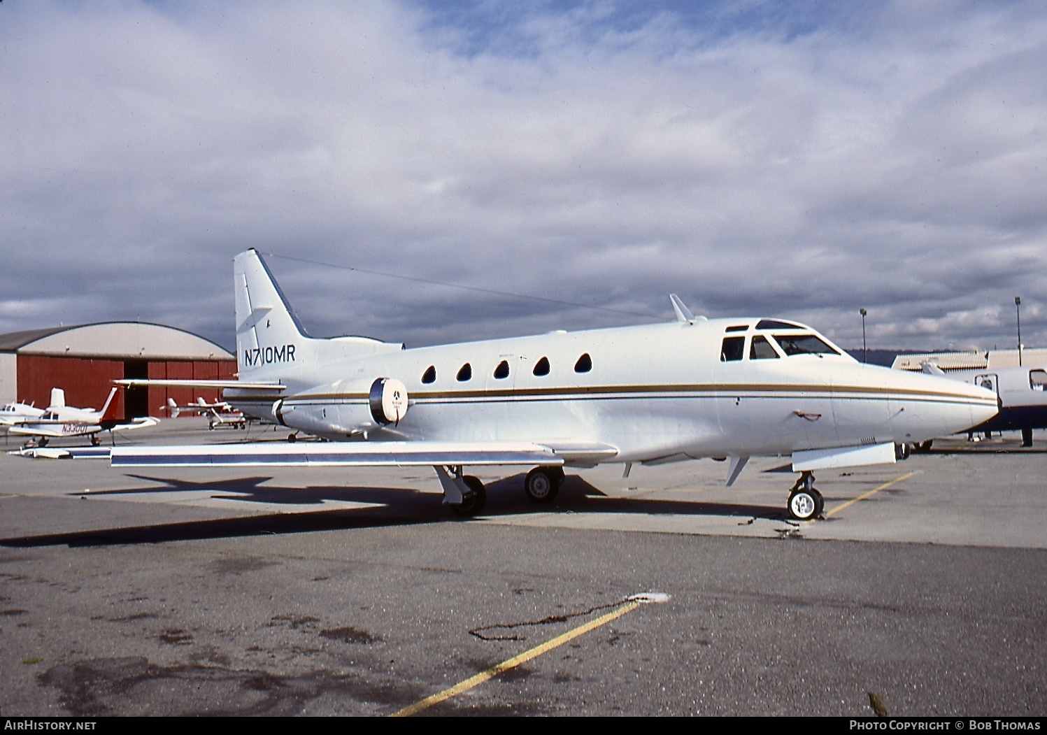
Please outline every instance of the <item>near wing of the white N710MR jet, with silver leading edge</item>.
[[113, 447], [114, 467], [411, 467], [562, 465], [539, 444], [505, 442], [294, 442]]

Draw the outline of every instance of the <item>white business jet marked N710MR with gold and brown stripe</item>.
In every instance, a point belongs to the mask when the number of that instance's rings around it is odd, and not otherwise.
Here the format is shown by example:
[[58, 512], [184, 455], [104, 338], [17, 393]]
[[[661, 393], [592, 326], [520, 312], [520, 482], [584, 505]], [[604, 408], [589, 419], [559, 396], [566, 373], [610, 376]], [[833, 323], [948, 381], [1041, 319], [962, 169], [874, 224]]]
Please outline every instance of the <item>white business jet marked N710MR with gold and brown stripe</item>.
[[549, 502], [564, 467], [792, 456], [788, 513], [817, 517], [812, 471], [895, 461], [895, 445], [980, 424], [996, 394], [857, 362], [809, 327], [708, 319], [675, 295], [653, 326], [407, 350], [365, 337], [310, 337], [253, 249], [233, 261], [237, 381], [221, 386], [249, 416], [320, 443], [119, 447], [114, 466], [431, 465], [444, 503], [478, 513], [484, 486], [466, 466], [522, 465], [525, 490]]

